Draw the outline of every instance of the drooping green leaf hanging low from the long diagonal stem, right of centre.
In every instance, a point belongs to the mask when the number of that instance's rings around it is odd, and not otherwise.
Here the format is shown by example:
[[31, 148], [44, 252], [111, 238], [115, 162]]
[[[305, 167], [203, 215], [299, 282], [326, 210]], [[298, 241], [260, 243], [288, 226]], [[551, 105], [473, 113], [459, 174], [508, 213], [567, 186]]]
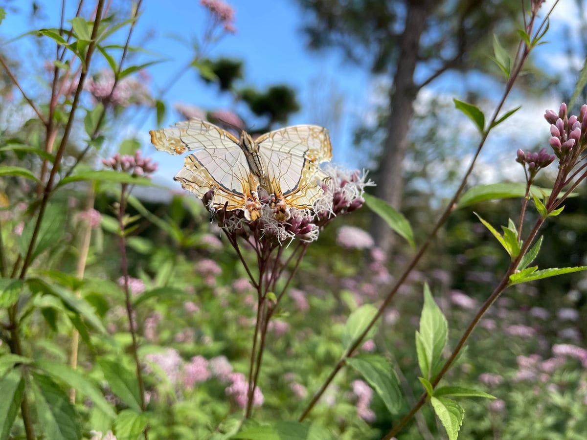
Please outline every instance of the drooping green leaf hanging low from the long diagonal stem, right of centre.
[[348, 358], [346, 364], [358, 371], [377, 391], [390, 414], [396, 414], [402, 408], [397, 377], [386, 358], [378, 354], [361, 354]]

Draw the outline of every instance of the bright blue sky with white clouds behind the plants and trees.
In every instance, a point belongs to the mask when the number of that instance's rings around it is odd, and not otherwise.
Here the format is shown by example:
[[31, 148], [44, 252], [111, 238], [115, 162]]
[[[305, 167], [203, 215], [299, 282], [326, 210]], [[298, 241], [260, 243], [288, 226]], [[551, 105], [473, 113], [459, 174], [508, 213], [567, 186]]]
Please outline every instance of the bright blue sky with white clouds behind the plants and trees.
[[[552, 0], [548, 3], [551, 2]], [[68, 5], [67, 16], [73, 16], [76, 3], [66, 2]], [[93, 2], [87, 3], [93, 4]], [[36, 28], [57, 26], [60, 2], [45, 0], [41, 1], [41, 4], [46, 5], [44, 8], [46, 19], [35, 23], [34, 26]], [[364, 166], [363, 155], [358, 153], [352, 145], [352, 135], [353, 129], [360, 121], [369, 120], [373, 116], [374, 103], [385, 99], [378, 97], [375, 92], [374, 84], [377, 83], [377, 79], [370, 77], [366, 69], [345, 63], [340, 53], [336, 51], [316, 53], [307, 50], [306, 40], [301, 32], [304, 17], [295, 0], [233, 0], [230, 4], [236, 10], [235, 27], [237, 33], [225, 36], [208, 55], [243, 59], [245, 63], [244, 85], [264, 89], [272, 84], [285, 83], [294, 87], [298, 92], [297, 96], [302, 110], [292, 116], [291, 124], [322, 124], [324, 114], [329, 113], [331, 108], [329, 96], [335, 90], [336, 93], [344, 97], [344, 100], [340, 124], [328, 126], [333, 141], [333, 160], [346, 167]], [[576, 27], [580, 18], [573, 12], [573, 4], [574, 2], [571, 0], [562, 0], [555, 9], [549, 35], [550, 41], [556, 42], [556, 28], [560, 27], [560, 24], [564, 23]], [[28, 2], [16, 2], [16, 5], [22, 8], [29, 7]], [[544, 6], [544, 10], [547, 6]], [[2, 38], [9, 39], [33, 29], [33, 25], [27, 19], [28, 10], [23, 10], [21, 14], [11, 13], [9, 9], [7, 11], [8, 16], [0, 26]], [[147, 40], [144, 47], [168, 58], [167, 62], [149, 68], [156, 86], [166, 83], [170, 75], [191, 57], [190, 49], [169, 38], [168, 34], [180, 33], [187, 38], [201, 36], [206, 18], [207, 11], [198, 0], [176, 0], [165, 2], [165, 5], [163, 2], [154, 0], [143, 2], [143, 15], [133, 35], [132, 43], [137, 44], [143, 41], [145, 35], [153, 32], [153, 36]], [[125, 36], [124, 31], [119, 33], [121, 43]], [[32, 40], [32, 37], [19, 40], [11, 43], [10, 47], [11, 50], [16, 50], [18, 56], [25, 62], [29, 60], [30, 70], [34, 72], [35, 68], [42, 66], [43, 60], [30, 58], [36, 54], [36, 49], [32, 48]], [[565, 68], [564, 54], [556, 52], [555, 44], [541, 46], [538, 52], [542, 53], [543, 62], [547, 66], [552, 66], [552, 69]], [[26, 69], [28, 66], [24, 67]], [[322, 81], [320, 86], [315, 85], [318, 79]], [[36, 77], [31, 75], [26, 85], [34, 88], [35, 81]], [[456, 80], [454, 76], [447, 75], [423, 91], [421, 96], [424, 97], [424, 104], [426, 104], [426, 96], [446, 96], [449, 101], [453, 96], [462, 99], [464, 84], [467, 82], [475, 84], [477, 81], [478, 79], [475, 77], [464, 80], [459, 77]], [[501, 93], [502, 87], [498, 84], [493, 85], [495, 90]], [[205, 84], [192, 72], [183, 76], [168, 91], [166, 101], [170, 108], [166, 124], [173, 124], [179, 119], [172, 108], [176, 101], [193, 104], [207, 110], [231, 109], [233, 106], [230, 97], [221, 96], [216, 92], [214, 86]], [[545, 108], [558, 106], [559, 102], [558, 98], [554, 96], [541, 97], [538, 102], [525, 101], [524, 107], [515, 118], [512, 118], [511, 123], [504, 124], [504, 130], [511, 133], [512, 130], [528, 127], [532, 121], [536, 121], [537, 124], [540, 121], [540, 125], [537, 125], [539, 129], [533, 130], [532, 134], [548, 136], [548, 127], [541, 121], [542, 113]], [[508, 103], [506, 107], [511, 108], [518, 104], [519, 102], [511, 100], [511, 103]], [[485, 110], [490, 111], [490, 105], [488, 103], [488, 108]], [[170, 181], [170, 177], [181, 167], [181, 160], [178, 163], [177, 158], [169, 157], [152, 149], [148, 141], [148, 131], [151, 128], [158, 128], [154, 118], [145, 121], [136, 134], [144, 141], [144, 153], [153, 155], [160, 163], [158, 181]], [[471, 130], [472, 136], [475, 136], [472, 127], [463, 128], [463, 130], [468, 129]], [[134, 134], [132, 127], [127, 127], [127, 133]], [[525, 133], [521, 131], [521, 135], [528, 137], [529, 134], [526, 130]], [[488, 145], [487, 150], [491, 150], [490, 147], [491, 145]], [[495, 162], [495, 160], [491, 161]]]

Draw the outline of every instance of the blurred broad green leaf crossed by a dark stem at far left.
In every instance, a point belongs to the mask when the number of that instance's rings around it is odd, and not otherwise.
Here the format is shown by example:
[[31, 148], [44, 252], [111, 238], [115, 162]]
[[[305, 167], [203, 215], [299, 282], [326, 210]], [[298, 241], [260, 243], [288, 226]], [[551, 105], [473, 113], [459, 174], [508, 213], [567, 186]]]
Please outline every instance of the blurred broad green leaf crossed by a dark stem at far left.
[[[39, 227], [35, 249], [31, 255], [31, 262], [33, 262], [41, 253], [52, 246], [61, 242], [63, 233], [65, 232], [66, 213], [67, 209], [63, 209], [62, 205], [49, 204], [45, 209], [45, 215]], [[16, 246], [22, 256], [26, 255], [28, 247], [31, 244], [31, 238], [35, 229], [36, 219], [25, 224], [22, 234], [16, 239]]]

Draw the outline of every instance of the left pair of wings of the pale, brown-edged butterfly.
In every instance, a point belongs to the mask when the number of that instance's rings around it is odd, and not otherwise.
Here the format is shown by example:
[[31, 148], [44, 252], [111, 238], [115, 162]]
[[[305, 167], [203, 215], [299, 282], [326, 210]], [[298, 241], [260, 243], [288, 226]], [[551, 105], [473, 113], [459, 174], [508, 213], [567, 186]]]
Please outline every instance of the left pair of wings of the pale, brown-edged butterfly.
[[184, 189], [200, 198], [214, 189], [212, 209], [243, 209], [245, 215], [257, 217], [257, 179], [232, 134], [200, 119], [151, 130], [150, 134], [157, 150], [170, 154], [197, 150], [185, 157], [184, 167], [174, 177]]

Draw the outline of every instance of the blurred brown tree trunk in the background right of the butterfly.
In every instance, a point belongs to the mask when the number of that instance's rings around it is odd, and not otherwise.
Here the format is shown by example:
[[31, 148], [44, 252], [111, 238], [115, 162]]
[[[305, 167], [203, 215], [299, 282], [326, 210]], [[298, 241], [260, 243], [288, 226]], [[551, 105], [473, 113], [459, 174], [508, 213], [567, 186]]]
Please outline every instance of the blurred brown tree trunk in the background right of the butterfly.
[[[420, 37], [426, 29], [426, 20], [433, 4], [434, 0], [407, 1], [406, 25], [400, 39], [400, 54], [390, 90], [391, 111], [376, 182], [376, 195], [398, 210], [403, 197], [403, 161], [409, 145], [407, 134], [413, 116], [414, 100], [419, 92], [414, 84], [414, 71], [418, 62]], [[375, 216], [372, 223], [372, 234], [378, 246], [389, 255], [394, 244], [393, 232], [379, 216]]]

